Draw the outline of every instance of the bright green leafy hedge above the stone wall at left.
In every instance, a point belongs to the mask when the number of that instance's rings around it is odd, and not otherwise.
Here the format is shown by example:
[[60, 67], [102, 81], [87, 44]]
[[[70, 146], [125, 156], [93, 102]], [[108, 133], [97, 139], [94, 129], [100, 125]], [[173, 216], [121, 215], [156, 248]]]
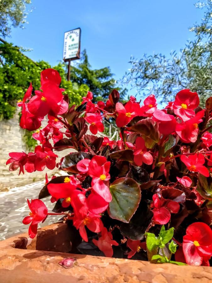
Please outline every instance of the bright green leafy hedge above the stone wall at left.
[[[10, 119], [16, 110], [16, 102], [22, 99], [30, 82], [34, 90], [40, 88], [41, 71], [51, 66], [45, 61], [34, 62], [22, 54], [18, 47], [11, 43], [1, 43], [0, 53], [3, 65], [0, 65], [0, 119]], [[59, 63], [53, 67], [61, 75], [61, 87], [66, 89], [72, 104], [80, 104], [86, 95], [88, 86], [77, 85], [66, 80], [65, 64]]]

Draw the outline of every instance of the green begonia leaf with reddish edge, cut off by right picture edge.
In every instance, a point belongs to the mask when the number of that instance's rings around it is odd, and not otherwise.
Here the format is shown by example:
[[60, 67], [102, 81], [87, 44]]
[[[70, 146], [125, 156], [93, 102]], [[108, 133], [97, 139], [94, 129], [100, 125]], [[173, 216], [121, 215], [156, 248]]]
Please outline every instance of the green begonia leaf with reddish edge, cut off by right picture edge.
[[198, 175], [197, 191], [204, 198], [212, 201], [212, 178]]

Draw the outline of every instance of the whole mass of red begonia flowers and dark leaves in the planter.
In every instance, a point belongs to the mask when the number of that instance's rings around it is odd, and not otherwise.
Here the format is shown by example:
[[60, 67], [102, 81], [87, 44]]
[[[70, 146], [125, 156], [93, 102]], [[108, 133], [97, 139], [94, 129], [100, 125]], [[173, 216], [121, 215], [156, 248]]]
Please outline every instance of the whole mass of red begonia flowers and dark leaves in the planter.
[[[113, 255], [112, 246], [125, 245], [122, 252], [131, 258], [148, 249], [145, 232], [157, 234], [158, 225], [171, 225], [179, 245], [176, 260], [209, 265], [212, 98], [202, 109], [198, 94], [184, 89], [161, 110], [153, 94], [140, 105], [133, 96], [119, 102], [114, 90], [106, 102], [94, 103], [88, 92], [79, 107], [69, 107], [60, 82], [56, 70], [46, 69], [41, 72], [41, 89], [33, 92], [30, 84], [18, 102], [20, 126], [37, 130], [33, 138], [40, 145], [28, 154], [10, 153], [9, 170], [19, 168], [24, 174], [24, 169], [31, 173], [57, 166], [68, 172], [50, 181], [46, 176], [39, 195], [51, 196], [55, 213], [48, 213], [40, 199], [28, 201], [31, 212], [23, 223], [31, 223], [29, 236], [36, 236], [38, 223], [48, 215], [63, 215], [85, 242], [106, 256]], [[45, 116], [47, 125], [38, 130]], [[119, 140], [93, 136], [104, 132], [105, 119], [115, 120]], [[86, 133], [87, 124], [93, 135]], [[75, 152], [56, 163], [53, 151], [67, 148]]]

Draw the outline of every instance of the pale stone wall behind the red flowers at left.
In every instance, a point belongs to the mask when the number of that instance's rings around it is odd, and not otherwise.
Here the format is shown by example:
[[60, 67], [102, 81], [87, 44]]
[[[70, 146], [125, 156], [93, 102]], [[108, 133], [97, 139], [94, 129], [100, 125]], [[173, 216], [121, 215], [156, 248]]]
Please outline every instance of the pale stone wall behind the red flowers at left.
[[[57, 168], [54, 170], [45, 169], [41, 172], [25, 172], [24, 175], [21, 173], [19, 176], [19, 169], [12, 172], [9, 171], [9, 165], [6, 165], [6, 161], [9, 158], [8, 153], [21, 151], [26, 152], [23, 135], [24, 130], [19, 126], [18, 110], [14, 115], [14, 118], [0, 121], [0, 191], [4, 191], [15, 186], [30, 184], [38, 180], [44, 180], [46, 172], [49, 178], [56, 172], [60, 175], [63, 174], [63, 171], [58, 172]], [[57, 161], [70, 152], [71, 150], [63, 150], [56, 153], [58, 155]]]

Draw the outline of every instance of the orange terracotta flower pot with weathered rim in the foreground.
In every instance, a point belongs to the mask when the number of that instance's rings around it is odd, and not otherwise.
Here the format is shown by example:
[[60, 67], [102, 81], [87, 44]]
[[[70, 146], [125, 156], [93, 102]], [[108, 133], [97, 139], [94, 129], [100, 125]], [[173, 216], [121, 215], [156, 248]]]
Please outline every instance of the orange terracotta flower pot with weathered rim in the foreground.
[[[0, 242], [0, 282], [212, 282], [211, 267], [151, 264], [119, 258], [71, 254], [77, 237], [67, 224], [56, 223]], [[69, 269], [58, 264], [75, 258]]]

